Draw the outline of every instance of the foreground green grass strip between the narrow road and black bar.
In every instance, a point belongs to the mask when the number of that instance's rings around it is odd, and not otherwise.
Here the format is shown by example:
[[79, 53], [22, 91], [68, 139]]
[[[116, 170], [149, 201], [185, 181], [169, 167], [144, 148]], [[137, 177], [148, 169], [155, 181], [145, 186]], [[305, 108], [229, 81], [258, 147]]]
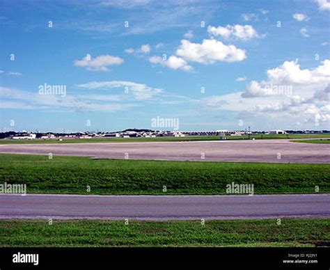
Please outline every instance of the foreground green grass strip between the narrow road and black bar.
[[0, 221], [0, 246], [325, 246], [330, 219]]

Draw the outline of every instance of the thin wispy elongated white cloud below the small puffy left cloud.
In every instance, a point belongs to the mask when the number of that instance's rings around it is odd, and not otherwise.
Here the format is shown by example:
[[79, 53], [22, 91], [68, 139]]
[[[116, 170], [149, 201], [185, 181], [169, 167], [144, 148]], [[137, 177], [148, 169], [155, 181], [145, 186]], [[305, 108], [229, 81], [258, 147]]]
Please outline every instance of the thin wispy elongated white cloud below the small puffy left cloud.
[[152, 88], [146, 86], [146, 84], [137, 84], [132, 81], [91, 81], [87, 84], [77, 84], [76, 86], [79, 88], [99, 90], [122, 88], [123, 93], [127, 89], [128, 93], [132, 93], [136, 100], [150, 100], [155, 95], [162, 93], [162, 89], [160, 88]]

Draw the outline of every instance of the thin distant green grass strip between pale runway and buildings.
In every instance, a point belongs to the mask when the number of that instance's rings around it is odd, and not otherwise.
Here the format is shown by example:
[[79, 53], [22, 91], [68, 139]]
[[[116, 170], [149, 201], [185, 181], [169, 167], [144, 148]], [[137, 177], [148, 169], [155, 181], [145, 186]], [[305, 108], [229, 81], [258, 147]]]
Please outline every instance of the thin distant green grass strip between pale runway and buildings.
[[[329, 133], [324, 134], [258, 134], [252, 136], [224, 136], [226, 140], [247, 140], [249, 138], [274, 139], [274, 138], [330, 138]], [[220, 136], [185, 136], [185, 137], [156, 137], [156, 138], [66, 138], [58, 140], [0, 140], [0, 144], [12, 143], [127, 143], [127, 142], [166, 142], [166, 141], [219, 141]]]

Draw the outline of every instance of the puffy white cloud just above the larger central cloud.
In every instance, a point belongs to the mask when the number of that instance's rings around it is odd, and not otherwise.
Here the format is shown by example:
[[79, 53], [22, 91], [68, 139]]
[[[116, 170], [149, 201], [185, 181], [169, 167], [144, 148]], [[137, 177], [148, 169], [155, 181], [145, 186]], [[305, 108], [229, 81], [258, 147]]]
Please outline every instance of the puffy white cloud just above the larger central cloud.
[[236, 38], [237, 40], [251, 40], [251, 38], [258, 38], [259, 35], [256, 29], [253, 26], [246, 24], [246, 25], [227, 25], [226, 27], [223, 26], [208, 26], [207, 32], [213, 36], [220, 36], [224, 39], [229, 38]]

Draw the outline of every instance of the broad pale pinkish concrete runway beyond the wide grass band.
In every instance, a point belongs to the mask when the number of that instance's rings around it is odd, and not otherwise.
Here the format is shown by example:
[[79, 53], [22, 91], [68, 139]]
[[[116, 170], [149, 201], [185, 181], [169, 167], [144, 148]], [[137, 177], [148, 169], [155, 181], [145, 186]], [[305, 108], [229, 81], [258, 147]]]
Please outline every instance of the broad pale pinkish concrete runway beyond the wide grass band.
[[[58, 143], [0, 145], [0, 153], [49, 154], [95, 158], [189, 161], [330, 163], [330, 145], [287, 139], [155, 143]], [[278, 153], [281, 159], [278, 159]], [[205, 159], [202, 159], [204, 154]]]

